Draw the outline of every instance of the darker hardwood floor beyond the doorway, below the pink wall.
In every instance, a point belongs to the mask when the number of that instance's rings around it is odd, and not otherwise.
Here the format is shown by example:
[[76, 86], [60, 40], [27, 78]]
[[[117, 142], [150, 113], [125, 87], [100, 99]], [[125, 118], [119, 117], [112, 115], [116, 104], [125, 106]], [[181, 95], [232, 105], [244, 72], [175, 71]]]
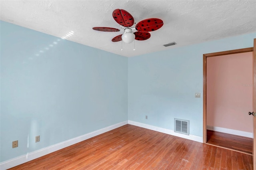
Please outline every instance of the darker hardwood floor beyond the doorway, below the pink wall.
[[207, 143], [252, 154], [252, 138], [207, 130]]

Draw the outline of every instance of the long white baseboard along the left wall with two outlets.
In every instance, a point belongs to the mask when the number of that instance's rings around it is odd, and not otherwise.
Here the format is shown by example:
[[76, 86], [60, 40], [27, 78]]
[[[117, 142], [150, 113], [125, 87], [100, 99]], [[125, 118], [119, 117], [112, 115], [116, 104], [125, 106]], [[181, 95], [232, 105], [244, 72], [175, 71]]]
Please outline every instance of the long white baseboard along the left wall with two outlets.
[[76, 138], [72, 138], [70, 140], [66, 140], [64, 142], [60, 142], [58, 144], [43, 148], [41, 150], [36, 150], [34, 152], [31, 152], [31, 153], [28, 153], [26, 155], [20, 156], [18, 158], [14, 158], [14, 159], [2, 162], [0, 164], [0, 170], [6, 170], [8, 168], [12, 168], [14, 166], [23, 164], [23, 163], [28, 162], [30, 160], [39, 158], [39, 157], [44, 156], [46, 154], [50, 154], [50, 153], [55, 152], [57, 150], [60, 150], [62, 148], [66, 148], [68, 146], [71, 146], [72, 144], [76, 144], [78, 142], [81, 142], [81, 141], [86, 140], [88, 138], [92, 138], [94, 136], [97, 136], [99, 134], [108, 132], [110, 130], [113, 130], [115, 128], [121, 127], [121, 126], [126, 125], [126, 124], [128, 124], [128, 121], [124, 121], [124, 122], [117, 123], [115, 125], [111, 125], [111, 126], [99, 129], [99, 130], [95, 130], [93, 132], [84, 134], [82, 136], [78, 136]]

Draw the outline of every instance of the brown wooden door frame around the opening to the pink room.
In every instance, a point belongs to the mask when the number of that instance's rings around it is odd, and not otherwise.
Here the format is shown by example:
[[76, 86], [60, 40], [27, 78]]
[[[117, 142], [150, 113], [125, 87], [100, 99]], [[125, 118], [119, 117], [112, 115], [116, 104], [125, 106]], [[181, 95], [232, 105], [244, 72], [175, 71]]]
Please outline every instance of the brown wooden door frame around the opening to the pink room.
[[[224, 57], [224, 56], [222, 56], [222, 55], [230, 55], [230, 54], [238, 54], [238, 53], [246, 53], [246, 52], [252, 52], [253, 51], [253, 48], [245, 48], [245, 49], [236, 49], [236, 50], [231, 50], [231, 51], [222, 51], [222, 52], [217, 52], [217, 53], [209, 53], [209, 54], [204, 54], [203, 55], [203, 62], [204, 62], [204, 99], [203, 99], [203, 101], [204, 101], [204, 110], [203, 110], [203, 131], [204, 131], [204, 134], [203, 134], [203, 142], [204, 143], [207, 143], [207, 121], [206, 121], [206, 113], [207, 113], [207, 109], [206, 109], [206, 100], [207, 100], [207, 97], [206, 97], [206, 84], [207, 84], [207, 82], [206, 82], [206, 72], [207, 72], [207, 69], [206, 69], [206, 61], [207, 61], [207, 58], [208, 57]], [[209, 59], [209, 58], [208, 58]], [[255, 73], [254, 73], [254, 75], [255, 75]], [[252, 97], [253, 98], [253, 97]], [[230, 114], [230, 117], [232, 117], [232, 113], [229, 113]], [[249, 116], [249, 115], [244, 115], [244, 116]], [[226, 118], [225, 119], [226, 121], [230, 121], [231, 119], [230, 118]], [[252, 130], [253, 130], [253, 128], [252, 128]], [[212, 135], [212, 134], [211, 134]], [[209, 134], [208, 134], [208, 137], [209, 137]], [[234, 140], [234, 139], [233, 139]], [[231, 140], [232, 141], [232, 140]], [[253, 140], [252, 140], [253, 141]], [[251, 143], [252, 143], [252, 141], [251, 141]], [[226, 142], [225, 142], [226, 143]], [[207, 144], [209, 144], [209, 143], [207, 143]], [[212, 145], [215, 145], [215, 146], [218, 146], [218, 144], [212, 144]], [[225, 146], [220, 146], [220, 147], [223, 147], [223, 148], [227, 148], [227, 147], [225, 147]], [[230, 149], [230, 150], [236, 150], [236, 149], [234, 149], [234, 148], [228, 148], [228, 149]], [[237, 151], [237, 150], [236, 150]], [[245, 152], [246, 153], [246, 152]]]

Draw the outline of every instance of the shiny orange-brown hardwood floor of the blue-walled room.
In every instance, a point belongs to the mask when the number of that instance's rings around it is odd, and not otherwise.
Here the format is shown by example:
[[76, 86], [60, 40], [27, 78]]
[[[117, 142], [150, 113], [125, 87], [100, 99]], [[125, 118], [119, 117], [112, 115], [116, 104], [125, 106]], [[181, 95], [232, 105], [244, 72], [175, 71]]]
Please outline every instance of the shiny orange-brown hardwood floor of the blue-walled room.
[[252, 156], [124, 125], [12, 170], [252, 170]]

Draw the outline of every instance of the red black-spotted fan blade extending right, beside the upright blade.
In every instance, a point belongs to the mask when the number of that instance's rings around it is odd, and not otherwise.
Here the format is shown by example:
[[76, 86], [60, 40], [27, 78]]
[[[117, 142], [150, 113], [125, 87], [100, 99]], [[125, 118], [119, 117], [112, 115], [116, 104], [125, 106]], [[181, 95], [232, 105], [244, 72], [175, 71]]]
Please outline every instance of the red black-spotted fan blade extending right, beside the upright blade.
[[148, 18], [146, 20], [142, 20], [136, 24], [136, 30], [142, 32], [150, 32], [155, 31], [161, 28], [164, 25], [164, 22], [158, 18]]

